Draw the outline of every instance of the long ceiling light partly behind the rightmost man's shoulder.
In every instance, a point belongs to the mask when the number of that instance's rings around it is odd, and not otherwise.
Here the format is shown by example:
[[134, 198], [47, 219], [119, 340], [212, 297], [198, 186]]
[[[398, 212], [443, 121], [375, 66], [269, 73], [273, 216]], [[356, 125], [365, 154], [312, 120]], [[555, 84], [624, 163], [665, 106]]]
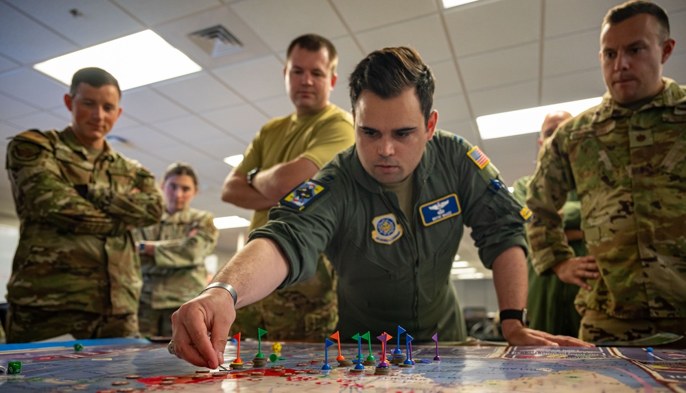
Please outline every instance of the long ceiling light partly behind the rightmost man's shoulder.
[[484, 140], [532, 134], [541, 131], [543, 119], [550, 112], [564, 110], [571, 113], [572, 116], [576, 116], [584, 110], [598, 105], [600, 101], [602, 101], [602, 97], [595, 97], [512, 112], [489, 114], [488, 116], [477, 117], [476, 123], [479, 126], [479, 134], [481, 134], [481, 138]]

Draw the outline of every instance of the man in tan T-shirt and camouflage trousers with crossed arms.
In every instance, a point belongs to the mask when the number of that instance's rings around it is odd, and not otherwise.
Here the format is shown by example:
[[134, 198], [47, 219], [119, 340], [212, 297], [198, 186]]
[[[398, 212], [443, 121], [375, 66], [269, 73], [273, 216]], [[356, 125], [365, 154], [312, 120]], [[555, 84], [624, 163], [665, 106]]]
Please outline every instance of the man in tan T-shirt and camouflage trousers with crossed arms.
[[[335, 47], [321, 36], [307, 34], [289, 45], [283, 73], [295, 112], [262, 127], [222, 190], [222, 200], [255, 210], [251, 231], [267, 223], [283, 195], [355, 142], [350, 114], [329, 102], [337, 64]], [[335, 281], [320, 255], [314, 277], [242, 307], [233, 331], [256, 338], [261, 327], [270, 340], [327, 338], [338, 321]]]

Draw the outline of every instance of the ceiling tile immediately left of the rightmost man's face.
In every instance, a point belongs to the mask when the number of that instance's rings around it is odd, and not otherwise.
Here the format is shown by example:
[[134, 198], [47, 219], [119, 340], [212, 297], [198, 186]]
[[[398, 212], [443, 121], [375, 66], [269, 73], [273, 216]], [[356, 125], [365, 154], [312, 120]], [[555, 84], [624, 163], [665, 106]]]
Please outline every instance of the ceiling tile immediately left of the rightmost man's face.
[[[559, 75], [598, 68], [598, 32], [574, 34], [545, 40], [543, 75]], [[595, 48], [594, 51], [589, 50]]]

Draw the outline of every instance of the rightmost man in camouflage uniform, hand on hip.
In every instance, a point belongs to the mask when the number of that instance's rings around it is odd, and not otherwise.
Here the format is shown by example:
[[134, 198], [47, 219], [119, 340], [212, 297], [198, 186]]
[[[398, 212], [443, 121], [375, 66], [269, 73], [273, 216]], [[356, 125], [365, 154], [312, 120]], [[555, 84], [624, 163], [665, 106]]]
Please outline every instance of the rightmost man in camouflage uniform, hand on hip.
[[[659, 6], [611, 9], [600, 34], [608, 92], [556, 130], [530, 181], [534, 268], [581, 287], [582, 340], [686, 331], [686, 89], [662, 77], [673, 49]], [[574, 257], [557, 214], [575, 189], [589, 257]]]

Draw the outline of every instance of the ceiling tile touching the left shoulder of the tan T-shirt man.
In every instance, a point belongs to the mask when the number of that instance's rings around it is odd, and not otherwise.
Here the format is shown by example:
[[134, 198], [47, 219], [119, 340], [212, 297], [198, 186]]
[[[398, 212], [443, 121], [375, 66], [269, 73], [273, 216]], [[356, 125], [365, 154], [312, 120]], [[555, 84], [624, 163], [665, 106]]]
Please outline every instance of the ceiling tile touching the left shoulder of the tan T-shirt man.
[[246, 145], [257, 134], [264, 123], [269, 120], [267, 116], [257, 112], [250, 105], [239, 105], [214, 112], [207, 112], [202, 116], [224, 130], [225, 134], [231, 134]]

